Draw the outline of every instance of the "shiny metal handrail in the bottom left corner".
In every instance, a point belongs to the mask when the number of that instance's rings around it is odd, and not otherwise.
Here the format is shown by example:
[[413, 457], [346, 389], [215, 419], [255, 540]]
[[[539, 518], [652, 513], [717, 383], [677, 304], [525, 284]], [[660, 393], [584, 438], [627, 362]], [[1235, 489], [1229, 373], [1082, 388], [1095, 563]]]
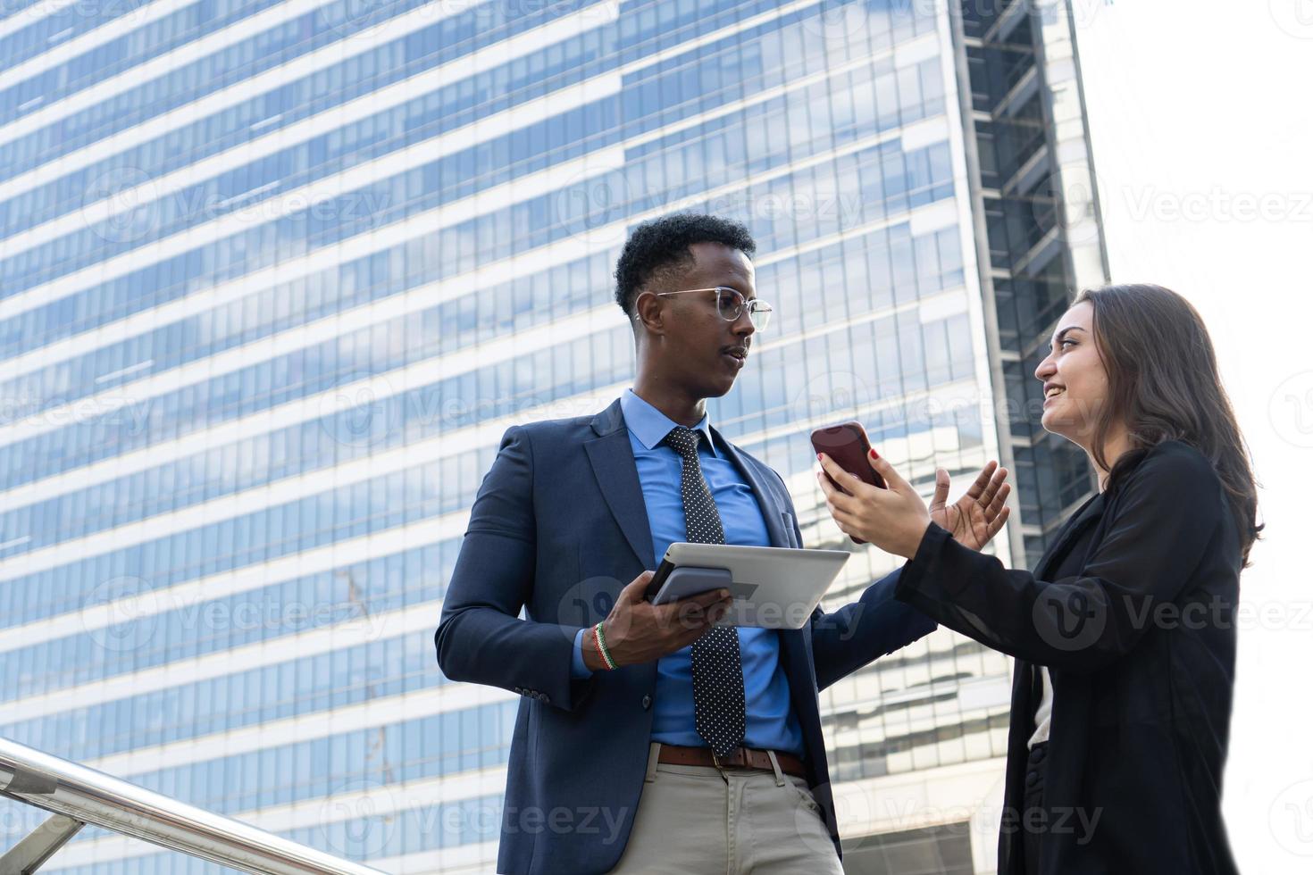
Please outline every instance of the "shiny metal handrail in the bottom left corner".
[[0, 858], [0, 875], [37, 871], [84, 824], [256, 875], [381, 875], [9, 739], [0, 739], [0, 795], [53, 812]]

